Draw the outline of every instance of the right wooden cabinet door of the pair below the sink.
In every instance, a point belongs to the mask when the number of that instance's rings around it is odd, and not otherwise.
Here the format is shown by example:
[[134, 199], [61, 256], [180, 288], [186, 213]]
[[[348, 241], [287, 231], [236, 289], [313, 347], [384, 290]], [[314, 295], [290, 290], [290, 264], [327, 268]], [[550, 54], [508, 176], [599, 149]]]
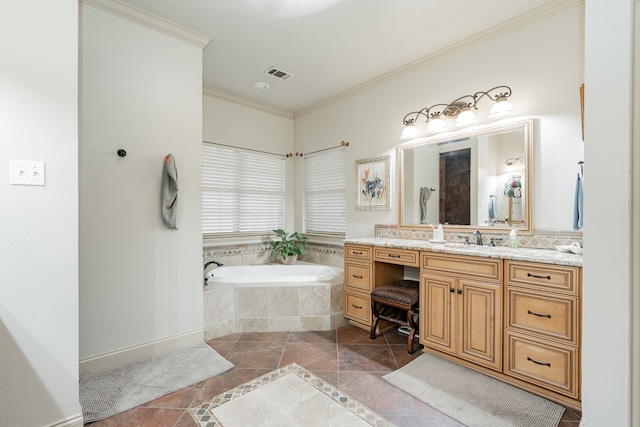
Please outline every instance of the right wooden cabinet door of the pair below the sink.
[[456, 296], [458, 355], [470, 362], [502, 370], [502, 286], [460, 279]]

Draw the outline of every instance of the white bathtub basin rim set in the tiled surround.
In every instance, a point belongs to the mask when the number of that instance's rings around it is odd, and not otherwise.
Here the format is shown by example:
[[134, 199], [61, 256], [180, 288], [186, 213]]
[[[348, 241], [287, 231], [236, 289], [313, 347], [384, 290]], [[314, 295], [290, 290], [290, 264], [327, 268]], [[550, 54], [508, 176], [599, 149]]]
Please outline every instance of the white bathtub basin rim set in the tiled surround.
[[325, 282], [336, 277], [333, 268], [299, 263], [218, 267], [207, 273], [207, 285], [215, 283], [304, 283]]

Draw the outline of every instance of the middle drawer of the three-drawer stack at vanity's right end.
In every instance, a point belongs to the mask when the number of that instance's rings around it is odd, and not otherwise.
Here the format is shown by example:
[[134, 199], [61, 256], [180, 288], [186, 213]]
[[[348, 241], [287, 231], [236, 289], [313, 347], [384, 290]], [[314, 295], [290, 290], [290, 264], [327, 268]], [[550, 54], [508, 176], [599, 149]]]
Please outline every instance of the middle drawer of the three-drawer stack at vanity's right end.
[[507, 328], [578, 345], [579, 300], [506, 287]]

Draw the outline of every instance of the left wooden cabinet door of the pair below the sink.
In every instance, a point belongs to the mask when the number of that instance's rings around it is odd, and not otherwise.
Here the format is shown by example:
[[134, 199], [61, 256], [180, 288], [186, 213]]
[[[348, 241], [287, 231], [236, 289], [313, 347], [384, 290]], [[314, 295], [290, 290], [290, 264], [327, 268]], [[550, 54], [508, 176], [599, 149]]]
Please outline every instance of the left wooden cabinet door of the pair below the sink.
[[455, 353], [456, 280], [437, 275], [421, 275], [420, 342], [427, 347]]

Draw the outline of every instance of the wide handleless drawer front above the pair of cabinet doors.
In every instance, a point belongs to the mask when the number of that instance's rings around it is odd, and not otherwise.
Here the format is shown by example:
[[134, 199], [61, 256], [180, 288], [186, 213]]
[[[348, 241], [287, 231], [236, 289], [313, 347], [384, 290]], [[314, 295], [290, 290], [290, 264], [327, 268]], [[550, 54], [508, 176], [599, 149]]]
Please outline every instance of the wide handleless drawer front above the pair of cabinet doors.
[[502, 260], [495, 258], [423, 252], [422, 268], [441, 273], [502, 281]]

